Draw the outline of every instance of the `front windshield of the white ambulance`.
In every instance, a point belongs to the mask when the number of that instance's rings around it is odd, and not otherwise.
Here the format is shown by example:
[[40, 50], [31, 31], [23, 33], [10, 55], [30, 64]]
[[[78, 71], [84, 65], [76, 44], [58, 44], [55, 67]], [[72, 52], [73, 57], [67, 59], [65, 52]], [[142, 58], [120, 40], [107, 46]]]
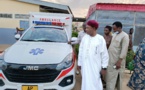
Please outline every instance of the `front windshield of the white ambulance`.
[[67, 35], [63, 28], [34, 27], [28, 30], [21, 41], [61, 42], [66, 43]]

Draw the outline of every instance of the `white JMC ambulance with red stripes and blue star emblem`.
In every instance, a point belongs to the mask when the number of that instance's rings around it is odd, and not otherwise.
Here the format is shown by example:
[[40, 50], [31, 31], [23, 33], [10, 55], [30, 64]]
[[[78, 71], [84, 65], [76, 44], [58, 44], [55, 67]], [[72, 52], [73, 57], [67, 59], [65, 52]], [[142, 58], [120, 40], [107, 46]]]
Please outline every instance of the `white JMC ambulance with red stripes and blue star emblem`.
[[0, 57], [0, 90], [71, 90], [72, 15], [31, 13], [30, 28]]

